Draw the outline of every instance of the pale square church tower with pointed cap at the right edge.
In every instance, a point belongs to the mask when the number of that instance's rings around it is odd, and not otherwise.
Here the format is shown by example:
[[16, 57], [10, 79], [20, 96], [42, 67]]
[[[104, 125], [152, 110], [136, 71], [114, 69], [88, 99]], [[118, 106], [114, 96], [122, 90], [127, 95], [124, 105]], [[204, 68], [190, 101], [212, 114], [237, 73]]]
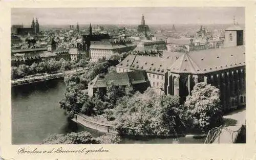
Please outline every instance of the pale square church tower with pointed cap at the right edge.
[[244, 30], [235, 22], [225, 30], [224, 47], [244, 45]]

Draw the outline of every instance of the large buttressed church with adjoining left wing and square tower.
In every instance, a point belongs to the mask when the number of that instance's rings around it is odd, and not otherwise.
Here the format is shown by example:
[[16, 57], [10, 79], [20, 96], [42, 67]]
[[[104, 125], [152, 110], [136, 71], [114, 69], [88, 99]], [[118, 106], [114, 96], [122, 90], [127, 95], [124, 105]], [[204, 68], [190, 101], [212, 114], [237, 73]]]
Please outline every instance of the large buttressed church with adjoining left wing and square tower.
[[151, 86], [181, 100], [191, 95], [196, 83], [206, 82], [221, 91], [223, 111], [245, 105], [245, 48], [243, 29], [225, 30], [221, 49], [170, 52], [164, 58], [129, 55], [117, 65], [117, 72], [145, 70]]

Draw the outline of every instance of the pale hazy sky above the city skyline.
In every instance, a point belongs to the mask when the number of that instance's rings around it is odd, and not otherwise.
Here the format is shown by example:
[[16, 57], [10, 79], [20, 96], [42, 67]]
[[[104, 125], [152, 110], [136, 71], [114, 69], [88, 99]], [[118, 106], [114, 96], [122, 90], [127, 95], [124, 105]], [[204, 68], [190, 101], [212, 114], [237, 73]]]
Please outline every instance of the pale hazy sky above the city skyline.
[[243, 7], [129, 7], [129, 8], [13, 8], [12, 25], [31, 25], [37, 17], [40, 25], [79, 24], [231, 24], [233, 16], [244, 24]]

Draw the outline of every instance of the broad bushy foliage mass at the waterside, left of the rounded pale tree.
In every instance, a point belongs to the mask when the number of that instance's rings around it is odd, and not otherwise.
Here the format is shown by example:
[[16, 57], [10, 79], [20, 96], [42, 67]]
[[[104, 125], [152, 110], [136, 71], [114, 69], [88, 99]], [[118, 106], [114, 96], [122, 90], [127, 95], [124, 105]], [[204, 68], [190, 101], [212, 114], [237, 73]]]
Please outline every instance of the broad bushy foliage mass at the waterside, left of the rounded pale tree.
[[116, 126], [121, 134], [173, 134], [180, 124], [179, 97], [158, 94], [148, 88], [143, 94], [121, 98], [116, 108]]

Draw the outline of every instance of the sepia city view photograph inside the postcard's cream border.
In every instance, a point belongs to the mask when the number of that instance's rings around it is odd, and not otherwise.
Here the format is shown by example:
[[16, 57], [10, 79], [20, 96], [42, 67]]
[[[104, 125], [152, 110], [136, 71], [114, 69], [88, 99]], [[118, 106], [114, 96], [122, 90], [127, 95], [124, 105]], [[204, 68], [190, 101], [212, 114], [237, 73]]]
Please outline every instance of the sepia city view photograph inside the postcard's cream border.
[[11, 8], [11, 143], [245, 144], [245, 7]]

